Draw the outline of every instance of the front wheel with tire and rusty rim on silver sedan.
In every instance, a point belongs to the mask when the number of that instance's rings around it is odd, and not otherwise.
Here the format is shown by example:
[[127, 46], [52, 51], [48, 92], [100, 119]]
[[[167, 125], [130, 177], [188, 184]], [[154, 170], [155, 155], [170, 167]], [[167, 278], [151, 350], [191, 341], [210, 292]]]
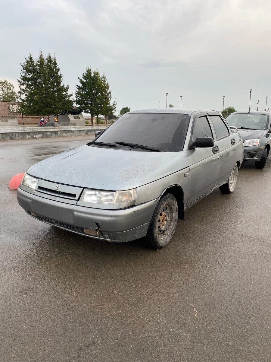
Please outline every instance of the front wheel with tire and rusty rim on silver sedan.
[[178, 203], [172, 193], [162, 196], [156, 206], [152, 222], [145, 237], [146, 244], [154, 249], [165, 247], [172, 239], [178, 221]]

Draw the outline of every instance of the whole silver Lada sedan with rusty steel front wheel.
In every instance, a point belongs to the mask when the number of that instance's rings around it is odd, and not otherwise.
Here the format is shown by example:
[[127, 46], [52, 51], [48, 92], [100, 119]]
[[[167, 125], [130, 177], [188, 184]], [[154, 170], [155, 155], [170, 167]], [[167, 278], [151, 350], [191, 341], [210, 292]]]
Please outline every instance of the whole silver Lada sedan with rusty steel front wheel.
[[94, 142], [30, 167], [17, 199], [65, 230], [117, 242], [146, 236], [161, 248], [188, 207], [218, 187], [234, 190], [243, 156], [240, 134], [216, 111], [129, 112]]

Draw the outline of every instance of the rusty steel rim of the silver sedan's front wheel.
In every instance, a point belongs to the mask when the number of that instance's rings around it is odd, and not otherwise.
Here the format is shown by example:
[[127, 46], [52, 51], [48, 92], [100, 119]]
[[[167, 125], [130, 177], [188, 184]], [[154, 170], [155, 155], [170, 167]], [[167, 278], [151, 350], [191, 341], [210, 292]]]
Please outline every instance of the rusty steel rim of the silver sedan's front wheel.
[[177, 205], [171, 200], [164, 203], [156, 221], [156, 231], [159, 239], [164, 240], [175, 229], [177, 223]]

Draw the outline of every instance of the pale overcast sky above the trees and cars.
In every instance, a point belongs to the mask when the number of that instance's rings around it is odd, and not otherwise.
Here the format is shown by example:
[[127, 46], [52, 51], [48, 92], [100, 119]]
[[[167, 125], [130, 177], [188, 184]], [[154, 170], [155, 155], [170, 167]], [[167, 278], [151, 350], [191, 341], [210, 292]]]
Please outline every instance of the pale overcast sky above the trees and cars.
[[[105, 72], [117, 112], [165, 107], [271, 109], [270, 0], [0, 0], [0, 79], [17, 86], [29, 51], [56, 55], [74, 92]], [[257, 107], [257, 105], [256, 105]]]

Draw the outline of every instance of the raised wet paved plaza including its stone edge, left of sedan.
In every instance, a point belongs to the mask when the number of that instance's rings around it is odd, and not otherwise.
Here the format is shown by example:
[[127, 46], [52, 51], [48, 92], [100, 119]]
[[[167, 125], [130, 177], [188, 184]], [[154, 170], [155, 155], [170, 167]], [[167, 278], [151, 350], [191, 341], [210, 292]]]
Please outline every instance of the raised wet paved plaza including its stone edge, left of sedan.
[[0, 141], [19, 139], [38, 139], [52, 137], [70, 137], [94, 135], [98, 130], [104, 130], [108, 125], [82, 127], [50, 127], [50, 126], [0, 126]]

